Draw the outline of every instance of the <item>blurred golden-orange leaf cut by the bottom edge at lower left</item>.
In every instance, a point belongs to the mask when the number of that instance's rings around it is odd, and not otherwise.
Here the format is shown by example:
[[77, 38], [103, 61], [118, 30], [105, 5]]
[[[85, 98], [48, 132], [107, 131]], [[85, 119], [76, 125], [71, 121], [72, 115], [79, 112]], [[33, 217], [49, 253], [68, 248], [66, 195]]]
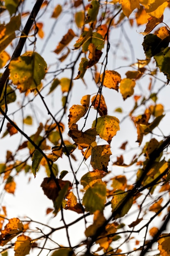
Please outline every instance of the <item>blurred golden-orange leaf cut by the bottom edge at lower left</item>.
[[30, 249], [31, 238], [23, 234], [18, 236], [14, 245], [15, 256], [25, 256], [29, 254]]

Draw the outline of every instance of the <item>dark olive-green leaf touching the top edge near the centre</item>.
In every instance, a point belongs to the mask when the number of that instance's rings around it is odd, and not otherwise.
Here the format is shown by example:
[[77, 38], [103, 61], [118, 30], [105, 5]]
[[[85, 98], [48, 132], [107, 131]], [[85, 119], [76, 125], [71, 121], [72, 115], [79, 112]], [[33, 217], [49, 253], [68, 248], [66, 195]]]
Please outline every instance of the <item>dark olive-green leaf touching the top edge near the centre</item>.
[[91, 1], [86, 14], [85, 24], [89, 22], [94, 22], [97, 18], [98, 11], [99, 11], [99, 2], [97, 0]]

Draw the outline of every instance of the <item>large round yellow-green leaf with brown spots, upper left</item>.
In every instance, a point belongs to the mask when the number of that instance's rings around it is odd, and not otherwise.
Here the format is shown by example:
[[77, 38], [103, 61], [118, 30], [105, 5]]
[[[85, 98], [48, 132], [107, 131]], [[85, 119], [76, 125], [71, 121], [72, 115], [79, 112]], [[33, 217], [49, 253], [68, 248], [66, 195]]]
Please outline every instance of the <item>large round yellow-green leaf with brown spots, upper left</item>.
[[9, 64], [10, 79], [20, 92], [33, 90], [40, 85], [46, 73], [46, 62], [36, 52], [26, 52]]

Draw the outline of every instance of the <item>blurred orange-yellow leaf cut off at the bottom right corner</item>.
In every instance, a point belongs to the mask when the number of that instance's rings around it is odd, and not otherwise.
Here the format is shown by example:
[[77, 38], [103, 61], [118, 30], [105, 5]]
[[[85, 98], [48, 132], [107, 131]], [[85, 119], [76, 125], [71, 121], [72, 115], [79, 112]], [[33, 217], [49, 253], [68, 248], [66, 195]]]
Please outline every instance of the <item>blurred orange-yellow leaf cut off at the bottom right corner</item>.
[[161, 256], [170, 256], [170, 234], [159, 236], [158, 249]]

